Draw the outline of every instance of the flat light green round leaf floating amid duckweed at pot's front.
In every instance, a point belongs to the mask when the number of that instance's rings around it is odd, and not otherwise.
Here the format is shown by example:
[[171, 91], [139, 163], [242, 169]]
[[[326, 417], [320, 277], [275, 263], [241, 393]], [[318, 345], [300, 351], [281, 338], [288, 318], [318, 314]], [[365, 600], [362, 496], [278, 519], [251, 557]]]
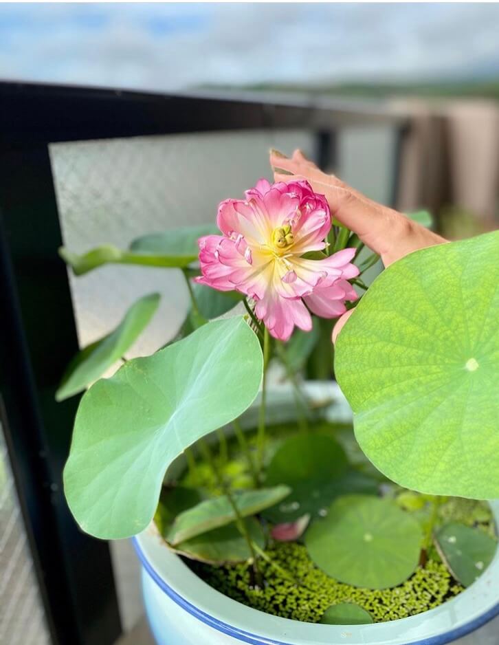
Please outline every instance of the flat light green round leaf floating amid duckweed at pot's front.
[[422, 532], [389, 499], [338, 497], [305, 534], [315, 564], [340, 582], [367, 589], [396, 587], [416, 569]]

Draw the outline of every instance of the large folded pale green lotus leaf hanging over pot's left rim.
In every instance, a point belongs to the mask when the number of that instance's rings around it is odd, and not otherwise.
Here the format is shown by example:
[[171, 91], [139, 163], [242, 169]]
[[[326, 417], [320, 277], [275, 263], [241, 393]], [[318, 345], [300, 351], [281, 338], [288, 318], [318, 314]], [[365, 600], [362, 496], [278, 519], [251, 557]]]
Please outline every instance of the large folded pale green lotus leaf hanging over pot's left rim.
[[66, 499], [80, 527], [107, 539], [142, 531], [166, 468], [245, 411], [262, 369], [258, 338], [236, 316], [208, 322], [93, 384], [80, 402], [64, 471]]

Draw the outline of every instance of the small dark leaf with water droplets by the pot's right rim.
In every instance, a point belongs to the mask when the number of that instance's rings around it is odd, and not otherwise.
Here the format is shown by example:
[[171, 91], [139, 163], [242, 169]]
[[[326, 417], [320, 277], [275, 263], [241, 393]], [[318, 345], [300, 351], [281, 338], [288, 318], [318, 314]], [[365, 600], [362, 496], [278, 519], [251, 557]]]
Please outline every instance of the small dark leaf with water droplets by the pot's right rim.
[[478, 529], [451, 522], [436, 534], [436, 547], [454, 578], [469, 587], [491, 563], [497, 543]]

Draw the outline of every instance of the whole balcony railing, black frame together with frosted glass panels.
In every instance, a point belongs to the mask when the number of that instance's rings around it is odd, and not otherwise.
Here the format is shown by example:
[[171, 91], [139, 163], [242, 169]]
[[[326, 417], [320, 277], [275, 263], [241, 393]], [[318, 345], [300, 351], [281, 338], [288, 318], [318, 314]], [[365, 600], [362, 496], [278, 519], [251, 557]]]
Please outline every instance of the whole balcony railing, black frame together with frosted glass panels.
[[[137, 294], [164, 295], [137, 353], [171, 336], [187, 303], [175, 272], [166, 279], [162, 270], [106, 267], [69, 284], [58, 247], [122, 246], [137, 234], [212, 221], [220, 199], [269, 174], [270, 146], [300, 146], [371, 197], [394, 203], [408, 123], [344, 102], [14, 83], [0, 84], [0, 105], [0, 395], [10, 462], [5, 457], [0, 468], [13, 472], [0, 477], [0, 499], [11, 504], [0, 513], [0, 589], [8, 589], [17, 633], [33, 633], [34, 644], [50, 633], [54, 644], [110, 645], [137, 611], [135, 569], [120, 556], [122, 543], [113, 571], [108, 545], [83, 535], [67, 510], [61, 474], [78, 397], [56, 404], [54, 392], [78, 336], [82, 344], [102, 336]], [[14, 582], [12, 571], [20, 572]]]

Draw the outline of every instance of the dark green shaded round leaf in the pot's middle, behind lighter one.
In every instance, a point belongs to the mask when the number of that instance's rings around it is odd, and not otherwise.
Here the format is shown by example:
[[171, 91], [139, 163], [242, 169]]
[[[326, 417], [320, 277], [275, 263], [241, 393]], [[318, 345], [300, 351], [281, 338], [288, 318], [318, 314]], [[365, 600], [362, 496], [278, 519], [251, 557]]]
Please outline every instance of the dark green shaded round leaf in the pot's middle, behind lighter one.
[[340, 444], [327, 435], [302, 434], [287, 439], [267, 468], [266, 485], [286, 484], [291, 493], [263, 515], [276, 524], [296, 521], [305, 514], [316, 517], [344, 492], [337, 484], [348, 461]]

